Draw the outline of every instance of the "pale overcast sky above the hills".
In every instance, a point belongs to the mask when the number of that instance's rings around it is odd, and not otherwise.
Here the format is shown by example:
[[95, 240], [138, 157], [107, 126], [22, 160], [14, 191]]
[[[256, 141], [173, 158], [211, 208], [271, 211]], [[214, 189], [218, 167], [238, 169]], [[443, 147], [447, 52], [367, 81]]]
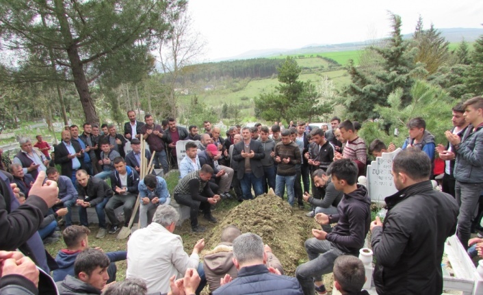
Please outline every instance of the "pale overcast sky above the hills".
[[189, 0], [188, 10], [208, 43], [207, 60], [386, 37], [388, 10], [402, 17], [403, 34], [420, 14], [426, 28], [483, 28], [482, 0]]

